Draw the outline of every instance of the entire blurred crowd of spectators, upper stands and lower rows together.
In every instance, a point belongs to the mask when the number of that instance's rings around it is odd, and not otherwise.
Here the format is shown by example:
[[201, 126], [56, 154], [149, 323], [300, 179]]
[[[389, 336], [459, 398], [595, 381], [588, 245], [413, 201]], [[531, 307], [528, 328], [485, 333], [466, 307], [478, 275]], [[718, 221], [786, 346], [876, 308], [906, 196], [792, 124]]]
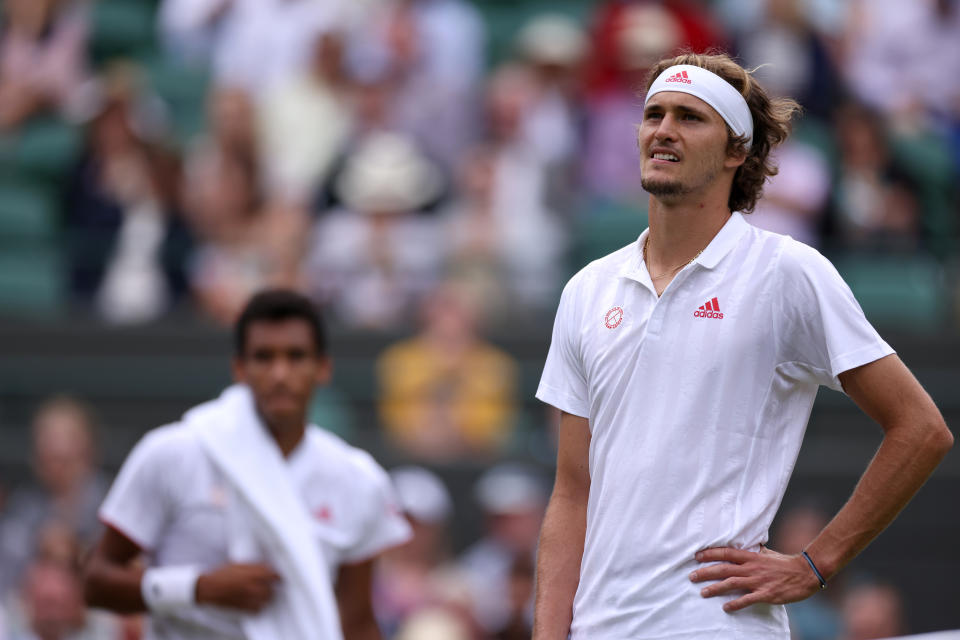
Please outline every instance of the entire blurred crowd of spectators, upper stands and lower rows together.
[[[384, 433], [426, 465], [395, 470], [416, 536], [376, 587], [400, 640], [529, 637], [549, 478], [494, 465], [521, 371], [486, 336], [552, 317], [584, 259], [645, 226], [634, 131], [653, 62], [730, 51], [803, 105], [752, 223], [842, 255], [949, 267], [956, 253], [960, 2], [512, 4], [506, 42], [496, 0], [0, 7], [0, 155], [36, 122], [81, 135], [57, 183], [72, 308], [131, 324], [187, 307], [229, 325], [252, 292], [287, 286], [341, 326], [409, 336], [375, 367]], [[96, 55], [108, 5], [147, 7], [148, 56]], [[0, 187], [16, 179], [0, 171]], [[38, 410], [35, 477], [0, 490], [0, 640], [138, 636], [79, 593], [107, 487], [96, 450], [82, 403]], [[475, 486], [482, 536], [455, 554], [458, 504], [427, 467], [463, 459], [491, 467]], [[785, 516], [774, 547], [801, 548], [817, 518]], [[897, 591], [869, 580], [793, 617], [802, 640], [905, 630]]]

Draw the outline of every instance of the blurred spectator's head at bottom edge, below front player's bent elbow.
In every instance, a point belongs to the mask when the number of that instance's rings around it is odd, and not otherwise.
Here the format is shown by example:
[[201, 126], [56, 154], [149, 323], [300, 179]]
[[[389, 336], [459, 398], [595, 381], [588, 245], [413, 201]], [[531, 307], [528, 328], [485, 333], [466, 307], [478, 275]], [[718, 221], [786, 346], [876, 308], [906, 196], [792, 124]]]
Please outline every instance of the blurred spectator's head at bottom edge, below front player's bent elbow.
[[843, 599], [840, 640], [876, 640], [907, 632], [903, 599], [892, 585], [864, 582], [850, 588]]

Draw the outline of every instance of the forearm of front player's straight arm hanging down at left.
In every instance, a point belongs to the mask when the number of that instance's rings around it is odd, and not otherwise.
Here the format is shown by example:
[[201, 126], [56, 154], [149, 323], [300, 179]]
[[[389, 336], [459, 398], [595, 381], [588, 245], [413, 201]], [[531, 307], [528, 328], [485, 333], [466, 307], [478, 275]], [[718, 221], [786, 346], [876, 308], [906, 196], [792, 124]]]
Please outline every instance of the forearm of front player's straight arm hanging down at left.
[[537, 550], [534, 640], [566, 640], [587, 530], [586, 495], [554, 491]]

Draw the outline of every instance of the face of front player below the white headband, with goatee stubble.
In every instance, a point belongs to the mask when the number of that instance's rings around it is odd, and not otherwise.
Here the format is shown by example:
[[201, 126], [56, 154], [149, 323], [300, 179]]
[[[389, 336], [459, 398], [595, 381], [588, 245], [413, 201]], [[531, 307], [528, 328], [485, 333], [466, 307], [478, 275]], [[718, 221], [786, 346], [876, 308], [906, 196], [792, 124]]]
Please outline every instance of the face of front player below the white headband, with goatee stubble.
[[732, 180], [743, 157], [727, 155], [727, 125], [706, 102], [663, 91], [647, 101], [638, 132], [641, 184], [653, 196], [677, 201], [702, 191], [725, 171]]

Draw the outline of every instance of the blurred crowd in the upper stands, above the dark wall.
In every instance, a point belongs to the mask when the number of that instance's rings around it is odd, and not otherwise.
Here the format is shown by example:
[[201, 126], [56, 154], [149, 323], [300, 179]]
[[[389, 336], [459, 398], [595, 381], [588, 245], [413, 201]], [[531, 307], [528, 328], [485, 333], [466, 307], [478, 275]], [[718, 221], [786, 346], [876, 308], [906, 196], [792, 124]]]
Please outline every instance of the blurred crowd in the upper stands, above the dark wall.
[[[107, 27], [89, 16], [118, 4], [153, 12], [149, 60], [91, 55]], [[805, 110], [753, 223], [949, 261], [955, 0], [560, 6], [494, 49], [495, 0], [8, 0], [0, 138], [40, 117], [82, 132], [58, 224], [71, 301], [110, 322], [184, 304], [229, 323], [287, 285], [394, 329], [454, 283], [509, 326], [611, 248], [589, 246], [611, 216], [614, 246], [643, 228], [638, 88], [652, 62], [715, 48]], [[182, 81], [155, 86], [157, 60]], [[184, 114], [198, 74], [205, 107]]]

